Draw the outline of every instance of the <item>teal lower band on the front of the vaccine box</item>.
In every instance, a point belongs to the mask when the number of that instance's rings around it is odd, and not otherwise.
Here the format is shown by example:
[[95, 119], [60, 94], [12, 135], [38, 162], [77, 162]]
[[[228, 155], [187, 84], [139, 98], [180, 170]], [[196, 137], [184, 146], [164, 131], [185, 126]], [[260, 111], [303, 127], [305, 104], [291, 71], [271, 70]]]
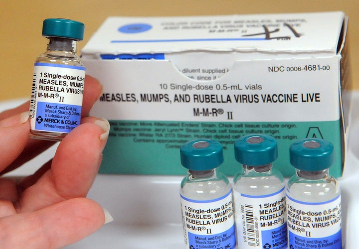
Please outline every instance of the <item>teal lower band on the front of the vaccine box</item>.
[[[185, 175], [180, 164], [179, 147], [195, 138], [219, 140], [223, 145], [224, 162], [219, 170], [233, 176], [242, 166], [234, 158], [234, 141], [242, 135], [262, 133], [278, 141], [278, 159], [273, 167], [285, 177], [295, 173], [289, 162], [289, 146], [296, 139], [321, 137], [334, 144], [335, 162], [330, 168], [334, 177], [342, 170], [340, 121], [327, 122], [231, 122], [219, 127], [217, 122], [115, 121], [103, 152], [100, 173]], [[202, 125], [206, 124], [206, 125]], [[204, 127], [206, 126], [206, 127]], [[208, 128], [209, 127], [209, 128]], [[211, 132], [208, 132], [210, 129]]]

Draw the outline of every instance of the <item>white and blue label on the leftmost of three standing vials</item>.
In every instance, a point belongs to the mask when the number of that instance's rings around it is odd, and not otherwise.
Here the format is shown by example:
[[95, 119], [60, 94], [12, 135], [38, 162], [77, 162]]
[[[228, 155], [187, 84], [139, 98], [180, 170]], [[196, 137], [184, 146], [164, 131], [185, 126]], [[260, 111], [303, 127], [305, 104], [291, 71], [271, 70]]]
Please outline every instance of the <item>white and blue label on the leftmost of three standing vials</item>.
[[235, 248], [232, 190], [207, 201], [181, 195], [181, 210], [186, 248]]

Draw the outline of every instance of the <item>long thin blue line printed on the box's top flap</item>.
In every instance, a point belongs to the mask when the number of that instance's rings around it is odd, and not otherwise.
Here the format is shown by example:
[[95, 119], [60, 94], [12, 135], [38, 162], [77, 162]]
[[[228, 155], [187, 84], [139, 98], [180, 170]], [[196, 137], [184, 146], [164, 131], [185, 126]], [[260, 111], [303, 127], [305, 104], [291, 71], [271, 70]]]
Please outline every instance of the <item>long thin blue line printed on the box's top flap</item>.
[[203, 39], [159, 39], [159, 40], [112, 40], [111, 43], [133, 43], [133, 42], [186, 42], [186, 41], [261, 41], [265, 38], [203, 38]]

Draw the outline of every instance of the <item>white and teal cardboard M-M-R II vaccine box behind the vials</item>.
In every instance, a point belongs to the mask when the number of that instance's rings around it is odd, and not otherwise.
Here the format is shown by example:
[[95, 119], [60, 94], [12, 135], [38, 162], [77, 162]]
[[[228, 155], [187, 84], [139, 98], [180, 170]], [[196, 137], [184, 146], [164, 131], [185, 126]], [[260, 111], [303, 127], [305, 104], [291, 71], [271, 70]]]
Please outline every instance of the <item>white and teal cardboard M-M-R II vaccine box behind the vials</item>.
[[342, 175], [350, 86], [343, 12], [109, 17], [82, 50], [103, 84], [91, 115], [110, 121], [101, 173], [185, 174], [179, 147], [210, 138], [234, 175], [234, 141], [278, 141], [274, 167], [293, 175], [289, 146], [319, 137]]

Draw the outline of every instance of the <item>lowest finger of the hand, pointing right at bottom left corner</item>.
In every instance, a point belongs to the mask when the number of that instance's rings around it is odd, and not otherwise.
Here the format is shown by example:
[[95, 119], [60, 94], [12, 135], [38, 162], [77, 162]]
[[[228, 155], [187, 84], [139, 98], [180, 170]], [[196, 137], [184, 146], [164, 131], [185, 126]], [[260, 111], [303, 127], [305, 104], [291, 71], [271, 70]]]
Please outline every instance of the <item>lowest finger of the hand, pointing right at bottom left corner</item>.
[[75, 198], [1, 218], [1, 248], [61, 248], [87, 237], [104, 223], [104, 210], [99, 204]]

